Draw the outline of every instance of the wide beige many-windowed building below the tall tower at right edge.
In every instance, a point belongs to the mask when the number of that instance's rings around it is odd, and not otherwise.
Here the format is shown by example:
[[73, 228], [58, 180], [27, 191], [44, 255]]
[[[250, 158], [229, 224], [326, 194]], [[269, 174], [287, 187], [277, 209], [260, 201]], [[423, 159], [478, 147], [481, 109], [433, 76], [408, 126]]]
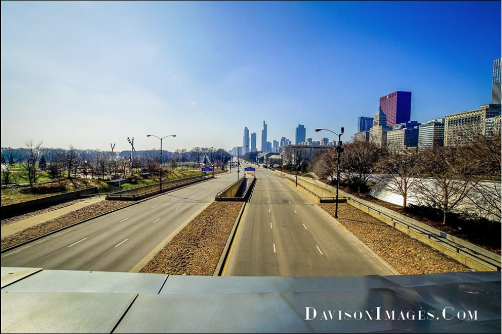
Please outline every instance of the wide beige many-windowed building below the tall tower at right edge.
[[486, 134], [486, 121], [499, 115], [500, 104], [484, 104], [476, 110], [447, 115], [444, 119], [444, 145], [472, 144], [477, 136]]

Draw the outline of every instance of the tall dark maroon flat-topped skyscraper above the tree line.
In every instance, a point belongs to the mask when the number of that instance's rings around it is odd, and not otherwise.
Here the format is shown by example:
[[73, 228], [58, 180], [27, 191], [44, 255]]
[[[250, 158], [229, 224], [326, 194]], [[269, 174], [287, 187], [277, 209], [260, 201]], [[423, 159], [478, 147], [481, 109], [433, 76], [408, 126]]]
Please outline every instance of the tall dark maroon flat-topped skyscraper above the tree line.
[[394, 91], [380, 98], [387, 125], [406, 123], [411, 119], [411, 91]]

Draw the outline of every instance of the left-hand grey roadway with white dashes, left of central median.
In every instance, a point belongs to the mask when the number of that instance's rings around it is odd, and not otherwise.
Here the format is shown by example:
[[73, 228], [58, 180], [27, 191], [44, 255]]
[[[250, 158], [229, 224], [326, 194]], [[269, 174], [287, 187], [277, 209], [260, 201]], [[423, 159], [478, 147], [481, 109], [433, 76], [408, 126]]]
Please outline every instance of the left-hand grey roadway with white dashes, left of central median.
[[225, 173], [153, 197], [2, 254], [2, 267], [139, 271], [216, 193], [237, 180]]

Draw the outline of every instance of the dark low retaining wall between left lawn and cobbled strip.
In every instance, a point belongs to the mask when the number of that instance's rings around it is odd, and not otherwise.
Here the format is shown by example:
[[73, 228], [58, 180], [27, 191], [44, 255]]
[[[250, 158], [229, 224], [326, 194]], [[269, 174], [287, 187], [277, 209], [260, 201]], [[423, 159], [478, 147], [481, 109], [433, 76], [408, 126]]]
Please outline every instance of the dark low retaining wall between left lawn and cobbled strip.
[[81, 195], [97, 194], [98, 187], [91, 187], [54, 196], [33, 199], [25, 202], [14, 203], [11, 205], [2, 206], [2, 219], [18, 216], [20, 214], [45, 209], [53, 205], [58, 205], [64, 202], [78, 199]]

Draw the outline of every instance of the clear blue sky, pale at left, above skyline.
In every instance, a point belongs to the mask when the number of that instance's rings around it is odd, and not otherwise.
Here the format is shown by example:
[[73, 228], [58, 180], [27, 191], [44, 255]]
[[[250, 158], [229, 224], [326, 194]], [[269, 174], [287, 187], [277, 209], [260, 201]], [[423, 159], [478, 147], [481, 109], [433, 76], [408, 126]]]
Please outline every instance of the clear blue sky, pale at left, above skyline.
[[501, 2], [2, 2], [2, 146], [230, 148], [490, 102]]

